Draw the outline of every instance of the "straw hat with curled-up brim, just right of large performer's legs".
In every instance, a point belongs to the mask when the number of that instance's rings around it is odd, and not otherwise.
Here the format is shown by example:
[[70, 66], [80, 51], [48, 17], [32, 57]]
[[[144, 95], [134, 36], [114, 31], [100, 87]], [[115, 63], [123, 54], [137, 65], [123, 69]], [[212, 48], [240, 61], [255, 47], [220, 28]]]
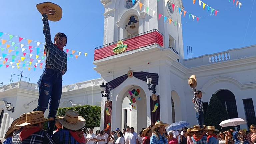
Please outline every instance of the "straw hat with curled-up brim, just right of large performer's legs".
[[75, 111], [67, 111], [63, 116], [56, 116], [59, 122], [69, 130], [79, 130], [84, 127], [85, 119], [82, 116], [78, 116]]

